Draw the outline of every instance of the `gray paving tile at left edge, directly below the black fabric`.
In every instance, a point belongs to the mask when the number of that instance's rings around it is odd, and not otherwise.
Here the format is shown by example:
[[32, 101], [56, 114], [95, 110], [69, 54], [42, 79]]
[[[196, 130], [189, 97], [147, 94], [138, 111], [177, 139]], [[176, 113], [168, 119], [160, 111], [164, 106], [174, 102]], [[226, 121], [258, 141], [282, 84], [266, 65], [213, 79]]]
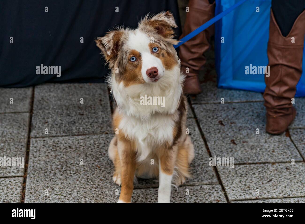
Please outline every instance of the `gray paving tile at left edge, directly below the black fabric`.
[[[0, 113], [30, 112], [32, 88], [0, 88]], [[13, 98], [12, 104], [10, 98]]]

